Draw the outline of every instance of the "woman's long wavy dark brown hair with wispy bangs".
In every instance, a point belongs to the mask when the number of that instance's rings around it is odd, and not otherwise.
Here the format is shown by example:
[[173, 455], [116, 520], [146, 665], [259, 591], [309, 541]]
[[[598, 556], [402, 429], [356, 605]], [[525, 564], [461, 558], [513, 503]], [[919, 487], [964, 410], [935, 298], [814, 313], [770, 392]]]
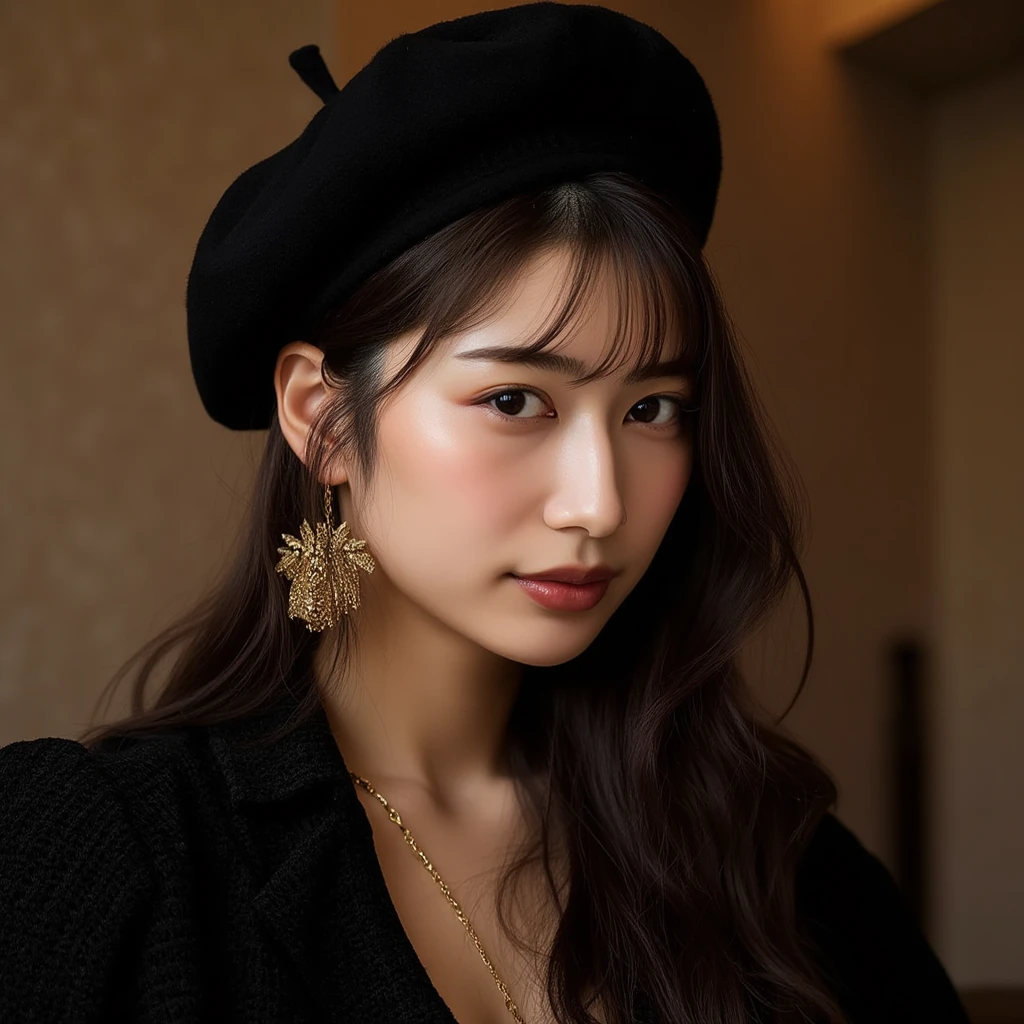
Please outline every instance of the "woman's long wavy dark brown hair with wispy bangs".
[[[806, 497], [745, 375], [685, 213], [629, 175], [539, 187], [462, 217], [324, 318], [306, 340], [324, 350], [333, 390], [306, 465], [274, 418], [221, 581], [111, 680], [106, 694], [133, 672], [131, 714], [93, 726], [82, 741], [236, 719], [286, 689], [300, 700], [291, 728], [317, 709], [316, 646], [333, 644], [337, 665], [353, 624], [344, 618], [322, 637], [288, 618], [287, 582], [274, 571], [281, 536], [321, 517], [317, 480], [332, 455], [345, 453], [371, 477], [384, 398], [441, 339], [480, 323], [548, 247], [570, 253], [569, 284], [531, 347], [555, 341], [594, 274], [610, 267], [617, 336], [591, 377], [656, 361], [674, 313], [696, 385], [694, 458], [651, 565], [593, 643], [565, 664], [523, 667], [507, 763], [536, 842], [502, 876], [502, 926], [532, 949], [513, 934], [504, 905], [527, 863], [543, 866], [556, 894], [549, 844], [557, 822], [570, 884], [564, 899], [557, 888], [561, 914], [544, 951], [560, 1021], [593, 1022], [587, 1006], [596, 993], [616, 1021], [634, 1019], [642, 999], [665, 1024], [838, 1024], [843, 1014], [795, 906], [798, 862], [836, 786], [783, 733], [781, 718], [765, 721], [737, 667], [744, 641], [796, 581], [808, 642], [794, 700], [807, 680], [813, 615], [798, 559]], [[419, 345], [385, 381], [385, 349], [410, 331], [422, 331]], [[173, 651], [146, 707], [146, 684]]]

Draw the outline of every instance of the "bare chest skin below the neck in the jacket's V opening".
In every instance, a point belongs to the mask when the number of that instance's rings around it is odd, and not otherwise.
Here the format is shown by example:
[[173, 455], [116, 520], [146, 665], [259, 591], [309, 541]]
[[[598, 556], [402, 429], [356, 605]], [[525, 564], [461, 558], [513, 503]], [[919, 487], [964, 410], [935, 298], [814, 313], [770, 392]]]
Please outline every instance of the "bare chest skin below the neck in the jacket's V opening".
[[[381, 792], [401, 815], [417, 845], [469, 918], [498, 976], [526, 1024], [555, 1024], [545, 991], [543, 951], [557, 925], [557, 907], [541, 870], [530, 867], [507, 903], [513, 924], [541, 956], [517, 949], [496, 910], [497, 883], [510, 844], [522, 836], [521, 817], [510, 794], [488, 801], [470, 820], [443, 818], [424, 810], [408, 793]], [[512, 1014], [455, 908], [426, 869], [400, 828], [376, 798], [356, 787], [374, 835], [374, 845], [406, 934], [434, 988], [460, 1024], [511, 1024]], [[400, 796], [404, 796], [403, 806]], [[600, 1020], [604, 1018], [596, 1013]]]

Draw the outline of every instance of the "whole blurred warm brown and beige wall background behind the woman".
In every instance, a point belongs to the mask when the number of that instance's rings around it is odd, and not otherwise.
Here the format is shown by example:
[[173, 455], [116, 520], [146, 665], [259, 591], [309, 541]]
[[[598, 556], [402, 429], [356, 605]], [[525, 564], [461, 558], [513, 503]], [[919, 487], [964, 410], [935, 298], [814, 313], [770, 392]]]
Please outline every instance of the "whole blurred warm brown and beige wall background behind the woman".
[[[788, 725], [836, 773], [841, 817], [893, 863], [889, 651], [924, 646], [930, 934], [958, 984], [1024, 985], [1013, 7], [972, 0], [977, 38], [998, 8], [989, 36], [1007, 45], [997, 67], [994, 50], [958, 51], [954, 69], [928, 46], [963, 0], [613, 6], [694, 60], [723, 126], [709, 255], [812, 511], [817, 652]], [[79, 731], [233, 536], [261, 437], [203, 414], [184, 282], [223, 188], [318, 105], [288, 52], [319, 43], [343, 82], [399, 32], [477, 9], [0, 8], [0, 742]], [[794, 602], [749, 651], [775, 710], [803, 640]]]

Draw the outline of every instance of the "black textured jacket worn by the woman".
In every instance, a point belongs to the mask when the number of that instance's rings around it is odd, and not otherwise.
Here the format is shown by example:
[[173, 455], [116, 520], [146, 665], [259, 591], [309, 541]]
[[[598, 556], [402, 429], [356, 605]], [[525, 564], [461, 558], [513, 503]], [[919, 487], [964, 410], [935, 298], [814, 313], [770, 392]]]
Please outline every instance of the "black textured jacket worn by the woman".
[[[323, 710], [231, 744], [279, 715], [0, 749], [3, 1024], [455, 1024]], [[965, 1024], [892, 878], [831, 815], [799, 887], [853, 1024]]]

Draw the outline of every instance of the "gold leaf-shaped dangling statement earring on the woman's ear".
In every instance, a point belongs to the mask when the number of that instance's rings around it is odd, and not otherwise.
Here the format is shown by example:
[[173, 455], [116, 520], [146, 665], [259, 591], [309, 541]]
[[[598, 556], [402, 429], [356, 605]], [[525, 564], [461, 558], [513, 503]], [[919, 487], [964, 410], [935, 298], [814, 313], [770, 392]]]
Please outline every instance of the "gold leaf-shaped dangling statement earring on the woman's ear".
[[279, 548], [276, 571], [292, 582], [288, 617], [302, 618], [310, 633], [330, 629], [341, 615], [359, 606], [358, 569], [373, 572], [376, 563], [364, 549], [366, 541], [349, 536], [348, 523], [334, 528], [331, 485], [324, 485], [326, 522], [315, 529], [305, 519], [299, 536], [282, 534], [287, 547]]

